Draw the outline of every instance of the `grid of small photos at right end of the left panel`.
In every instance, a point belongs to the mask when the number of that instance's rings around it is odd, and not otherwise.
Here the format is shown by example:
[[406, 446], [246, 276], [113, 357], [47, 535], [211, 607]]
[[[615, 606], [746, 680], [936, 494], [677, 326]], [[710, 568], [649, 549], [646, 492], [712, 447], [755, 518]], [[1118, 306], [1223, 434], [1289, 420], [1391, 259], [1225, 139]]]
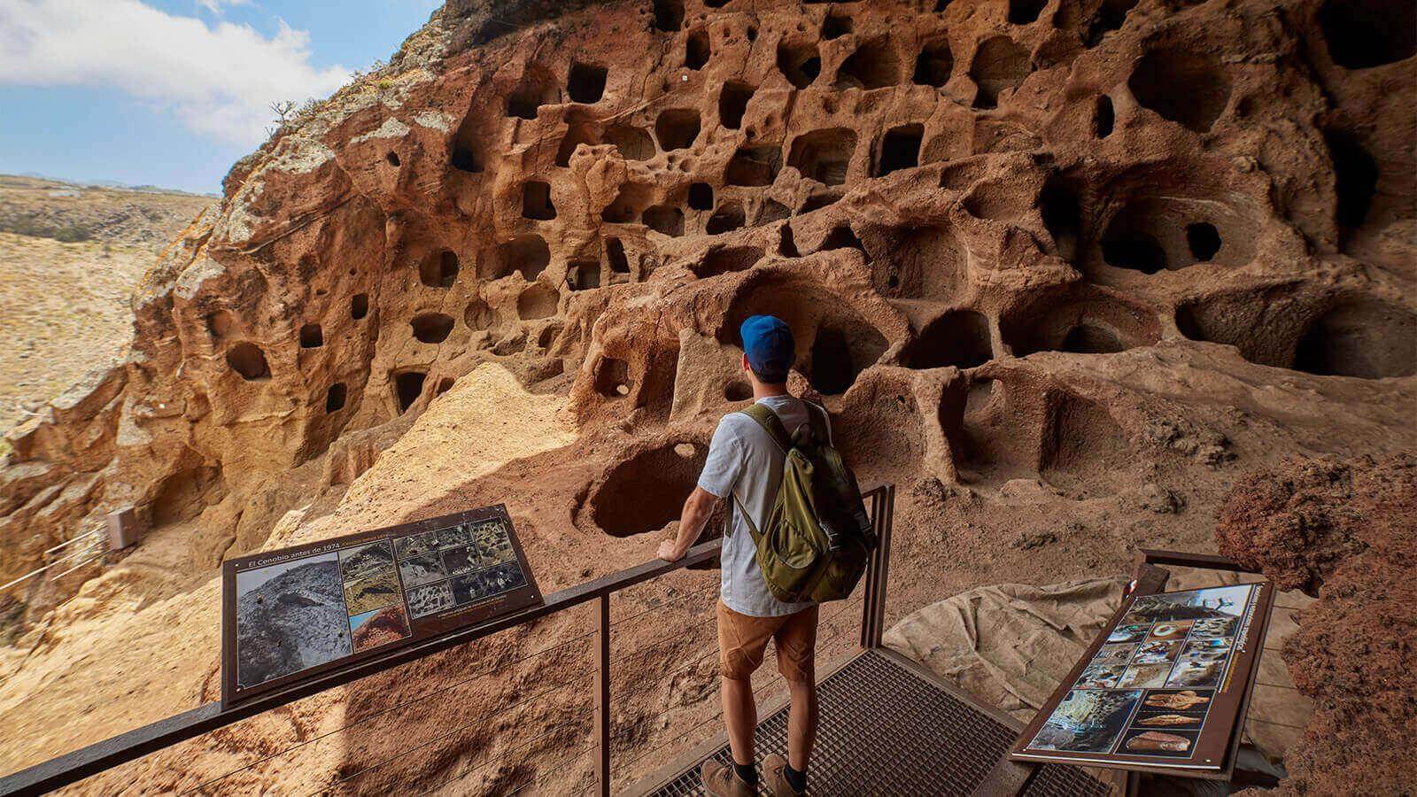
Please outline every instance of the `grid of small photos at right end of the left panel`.
[[507, 526], [493, 518], [395, 537], [414, 618], [526, 586]]

